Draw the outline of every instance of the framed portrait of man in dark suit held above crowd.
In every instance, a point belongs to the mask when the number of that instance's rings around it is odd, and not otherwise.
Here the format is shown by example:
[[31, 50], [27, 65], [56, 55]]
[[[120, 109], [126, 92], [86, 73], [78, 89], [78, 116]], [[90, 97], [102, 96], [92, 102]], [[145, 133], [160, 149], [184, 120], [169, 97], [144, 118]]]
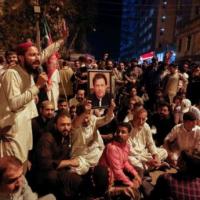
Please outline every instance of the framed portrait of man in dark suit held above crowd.
[[93, 108], [107, 108], [111, 102], [111, 71], [88, 71], [88, 99]]

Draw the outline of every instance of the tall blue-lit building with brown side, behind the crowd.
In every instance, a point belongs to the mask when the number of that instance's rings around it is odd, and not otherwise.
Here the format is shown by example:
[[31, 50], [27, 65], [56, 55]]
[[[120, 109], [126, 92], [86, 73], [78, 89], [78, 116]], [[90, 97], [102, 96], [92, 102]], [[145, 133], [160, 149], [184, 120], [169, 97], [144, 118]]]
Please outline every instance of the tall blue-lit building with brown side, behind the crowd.
[[[130, 46], [133, 47], [132, 50], [126, 48], [126, 54], [133, 51], [137, 57], [152, 51], [159, 53], [175, 48], [176, 0], [132, 0], [134, 13], [127, 12], [133, 8], [128, 5], [128, 0], [124, 2], [126, 12], [123, 12], [122, 24], [126, 25], [122, 26], [121, 31], [121, 55], [125, 52], [125, 48], [122, 48], [124, 43], [132, 43]], [[134, 19], [132, 35], [127, 30], [130, 13]], [[129, 41], [131, 37], [133, 42]]]

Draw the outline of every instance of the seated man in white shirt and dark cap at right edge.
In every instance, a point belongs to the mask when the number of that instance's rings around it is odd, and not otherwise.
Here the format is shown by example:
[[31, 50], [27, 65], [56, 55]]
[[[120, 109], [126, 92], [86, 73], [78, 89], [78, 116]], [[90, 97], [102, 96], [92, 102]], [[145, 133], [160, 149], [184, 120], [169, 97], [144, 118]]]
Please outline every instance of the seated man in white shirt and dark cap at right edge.
[[200, 127], [196, 123], [197, 116], [187, 112], [183, 115], [183, 123], [176, 125], [165, 138], [164, 147], [173, 166], [176, 166], [181, 151], [200, 152]]

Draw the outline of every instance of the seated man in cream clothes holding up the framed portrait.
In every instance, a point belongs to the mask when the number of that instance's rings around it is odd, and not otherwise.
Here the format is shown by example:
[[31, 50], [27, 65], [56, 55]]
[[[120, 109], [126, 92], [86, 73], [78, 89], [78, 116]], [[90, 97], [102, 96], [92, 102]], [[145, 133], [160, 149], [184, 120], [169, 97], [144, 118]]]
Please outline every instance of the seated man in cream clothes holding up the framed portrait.
[[97, 165], [104, 149], [103, 140], [97, 130], [113, 119], [114, 102], [104, 117], [91, 113], [91, 104], [79, 105], [72, 128], [72, 157], [79, 158], [79, 166], [74, 168], [78, 174], [86, 174], [90, 167]]

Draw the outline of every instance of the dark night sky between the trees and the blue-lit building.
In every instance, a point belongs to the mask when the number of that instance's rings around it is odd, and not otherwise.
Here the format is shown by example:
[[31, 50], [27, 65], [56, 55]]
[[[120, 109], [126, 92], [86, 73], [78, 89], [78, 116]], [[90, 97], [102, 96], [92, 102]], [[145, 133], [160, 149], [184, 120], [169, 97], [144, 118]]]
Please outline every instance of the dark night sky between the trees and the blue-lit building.
[[121, 0], [98, 0], [95, 29], [89, 35], [92, 53], [100, 58], [103, 52], [117, 59], [120, 45]]

